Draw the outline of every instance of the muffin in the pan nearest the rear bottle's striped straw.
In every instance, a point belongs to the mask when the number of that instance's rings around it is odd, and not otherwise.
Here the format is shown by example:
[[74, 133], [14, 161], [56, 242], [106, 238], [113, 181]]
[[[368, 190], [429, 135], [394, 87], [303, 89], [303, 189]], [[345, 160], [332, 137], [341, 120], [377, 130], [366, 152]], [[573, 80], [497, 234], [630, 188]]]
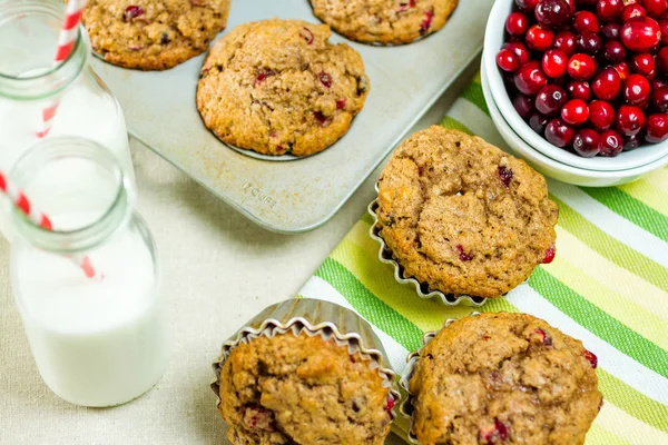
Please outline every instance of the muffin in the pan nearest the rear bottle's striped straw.
[[89, 0], [82, 22], [110, 63], [165, 70], [205, 52], [227, 24], [230, 0]]

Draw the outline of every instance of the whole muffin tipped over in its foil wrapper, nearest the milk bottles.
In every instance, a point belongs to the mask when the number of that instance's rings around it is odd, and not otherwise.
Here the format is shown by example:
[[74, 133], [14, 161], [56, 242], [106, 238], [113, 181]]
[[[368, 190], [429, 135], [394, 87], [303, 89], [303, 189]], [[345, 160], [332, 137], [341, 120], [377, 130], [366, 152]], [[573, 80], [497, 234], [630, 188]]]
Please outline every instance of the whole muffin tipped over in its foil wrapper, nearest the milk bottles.
[[227, 437], [235, 445], [383, 444], [399, 399], [384, 354], [352, 310], [306, 298], [271, 306], [214, 364]]

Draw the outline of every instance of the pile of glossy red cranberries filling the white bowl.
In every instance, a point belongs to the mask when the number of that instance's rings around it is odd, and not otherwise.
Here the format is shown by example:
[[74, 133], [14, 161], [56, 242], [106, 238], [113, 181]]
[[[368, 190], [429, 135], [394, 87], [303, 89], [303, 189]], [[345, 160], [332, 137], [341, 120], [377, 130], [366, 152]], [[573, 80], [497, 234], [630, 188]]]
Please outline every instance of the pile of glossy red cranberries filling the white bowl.
[[514, 0], [497, 55], [549, 142], [612, 157], [668, 138], [668, 0]]

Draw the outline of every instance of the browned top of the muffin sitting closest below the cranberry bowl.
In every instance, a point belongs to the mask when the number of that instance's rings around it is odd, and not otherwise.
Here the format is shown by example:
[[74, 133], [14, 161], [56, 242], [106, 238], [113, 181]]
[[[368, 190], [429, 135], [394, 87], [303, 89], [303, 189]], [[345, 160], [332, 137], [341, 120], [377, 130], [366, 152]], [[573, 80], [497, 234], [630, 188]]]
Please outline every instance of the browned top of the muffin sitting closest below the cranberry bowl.
[[394, 152], [379, 181], [380, 236], [444, 294], [497, 298], [553, 253], [546, 179], [479, 137], [433, 126]]

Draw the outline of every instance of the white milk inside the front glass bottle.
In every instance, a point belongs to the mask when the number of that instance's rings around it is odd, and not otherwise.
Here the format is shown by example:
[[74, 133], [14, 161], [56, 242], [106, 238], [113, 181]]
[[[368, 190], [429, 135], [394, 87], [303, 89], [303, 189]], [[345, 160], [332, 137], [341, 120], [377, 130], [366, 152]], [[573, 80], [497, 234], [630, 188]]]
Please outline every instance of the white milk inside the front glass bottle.
[[[55, 225], [91, 219], [66, 215]], [[157, 383], [168, 362], [153, 256], [130, 227], [91, 253], [102, 280], [87, 279], [69, 259], [28, 243], [12, 246], [13, 294], [37, 367], [49, 388], [72, 404], [129, 402]]]

